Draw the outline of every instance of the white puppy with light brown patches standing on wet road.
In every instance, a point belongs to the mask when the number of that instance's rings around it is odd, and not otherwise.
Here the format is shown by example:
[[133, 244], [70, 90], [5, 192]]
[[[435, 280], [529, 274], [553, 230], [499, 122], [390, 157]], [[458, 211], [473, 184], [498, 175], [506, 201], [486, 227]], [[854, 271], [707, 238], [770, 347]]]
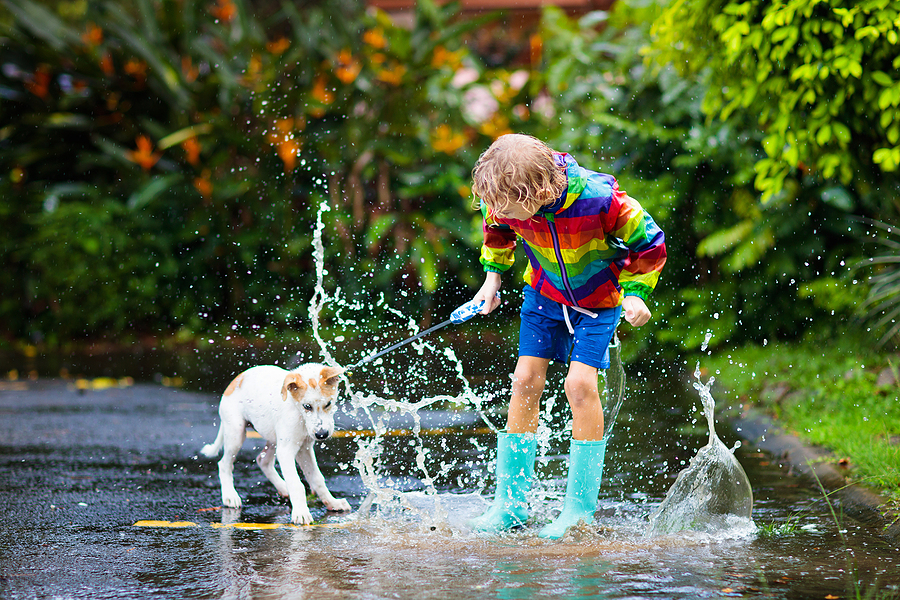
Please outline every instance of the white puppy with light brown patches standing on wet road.
[[[328, 510], [350, 510], [346, 500], [339, 500], [328, 491], [313, 450], [316, 441], [328, 439], [334, 432], [338, 377], [342, 372], [343, 369], [315, 363], [292, 371], [266, 365], [247, 369], [231, 382], [219, 404], [221, 424], [216, 441], [200, 450], [212, 458], [225, 448], [219, 461], [224, 506], [241, 507], [241, 497], [234, 489], [234, 459], [250, 424], [266, 440], [256, 462], [278, 493], [291, 499], [292, 523], [312, 523], [296, 463]], [[284, 479], [275, 470], [276, 457]]]

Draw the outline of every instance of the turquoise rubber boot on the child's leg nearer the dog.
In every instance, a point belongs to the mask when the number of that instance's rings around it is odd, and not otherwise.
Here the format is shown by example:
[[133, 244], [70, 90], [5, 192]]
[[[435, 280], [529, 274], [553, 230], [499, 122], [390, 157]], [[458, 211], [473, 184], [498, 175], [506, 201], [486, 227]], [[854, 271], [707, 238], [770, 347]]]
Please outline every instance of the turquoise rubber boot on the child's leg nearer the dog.
[[494, 503], [483, 515], [469, 521], [472, 529], [496, 533], [525, 524], [536, 453], [537, 438], [532, 433], [497, 434]]

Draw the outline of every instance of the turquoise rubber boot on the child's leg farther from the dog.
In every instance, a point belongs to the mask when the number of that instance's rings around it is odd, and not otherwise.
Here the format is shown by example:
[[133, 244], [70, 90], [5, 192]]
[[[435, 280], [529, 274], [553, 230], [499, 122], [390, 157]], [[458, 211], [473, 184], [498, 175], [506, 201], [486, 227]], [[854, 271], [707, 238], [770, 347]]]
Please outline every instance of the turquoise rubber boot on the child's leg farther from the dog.
[[599, 441], [572, 440], [569, 447], [566, 503], [556, 520], [541, 529], [538, 533], [540, 537], [556, 540], [579, 521], [590, 523], [594, 520], [605, 457], [606, 438]]

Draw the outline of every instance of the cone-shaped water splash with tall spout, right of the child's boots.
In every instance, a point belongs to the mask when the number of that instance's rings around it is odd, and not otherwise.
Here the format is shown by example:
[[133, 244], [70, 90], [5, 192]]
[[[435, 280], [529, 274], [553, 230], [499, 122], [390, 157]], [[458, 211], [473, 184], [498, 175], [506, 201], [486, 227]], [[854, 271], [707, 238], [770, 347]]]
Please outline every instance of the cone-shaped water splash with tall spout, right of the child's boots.
[[[709, 342], [707, 334], [704, 347]], [[694, 389], [700, 394], [703, 414], [709, 423], [709, 442], [697, 451], [657, 510], [650, 515], [648, 535], [658, 536], [692, 530], [722, 533], [738, 528], [755, 531], [751, 519], [753, 491], [734, 450], [728, 449], [715, 428], [715, 400], [710, 389], [715, 377], [703, 383], [700, 363], [694, 371]]]

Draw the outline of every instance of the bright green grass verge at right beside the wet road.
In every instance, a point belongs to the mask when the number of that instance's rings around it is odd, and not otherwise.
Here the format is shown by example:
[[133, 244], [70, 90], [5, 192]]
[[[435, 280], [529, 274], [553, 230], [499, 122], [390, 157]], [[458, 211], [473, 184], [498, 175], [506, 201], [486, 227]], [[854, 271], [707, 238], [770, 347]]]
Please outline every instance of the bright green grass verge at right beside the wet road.
[[849, 461], [850, 477], [900, 501], [900, 386], [877, 384], [900, 357], [852, 332], [714, 349], [701, 365], [787, 433]]

